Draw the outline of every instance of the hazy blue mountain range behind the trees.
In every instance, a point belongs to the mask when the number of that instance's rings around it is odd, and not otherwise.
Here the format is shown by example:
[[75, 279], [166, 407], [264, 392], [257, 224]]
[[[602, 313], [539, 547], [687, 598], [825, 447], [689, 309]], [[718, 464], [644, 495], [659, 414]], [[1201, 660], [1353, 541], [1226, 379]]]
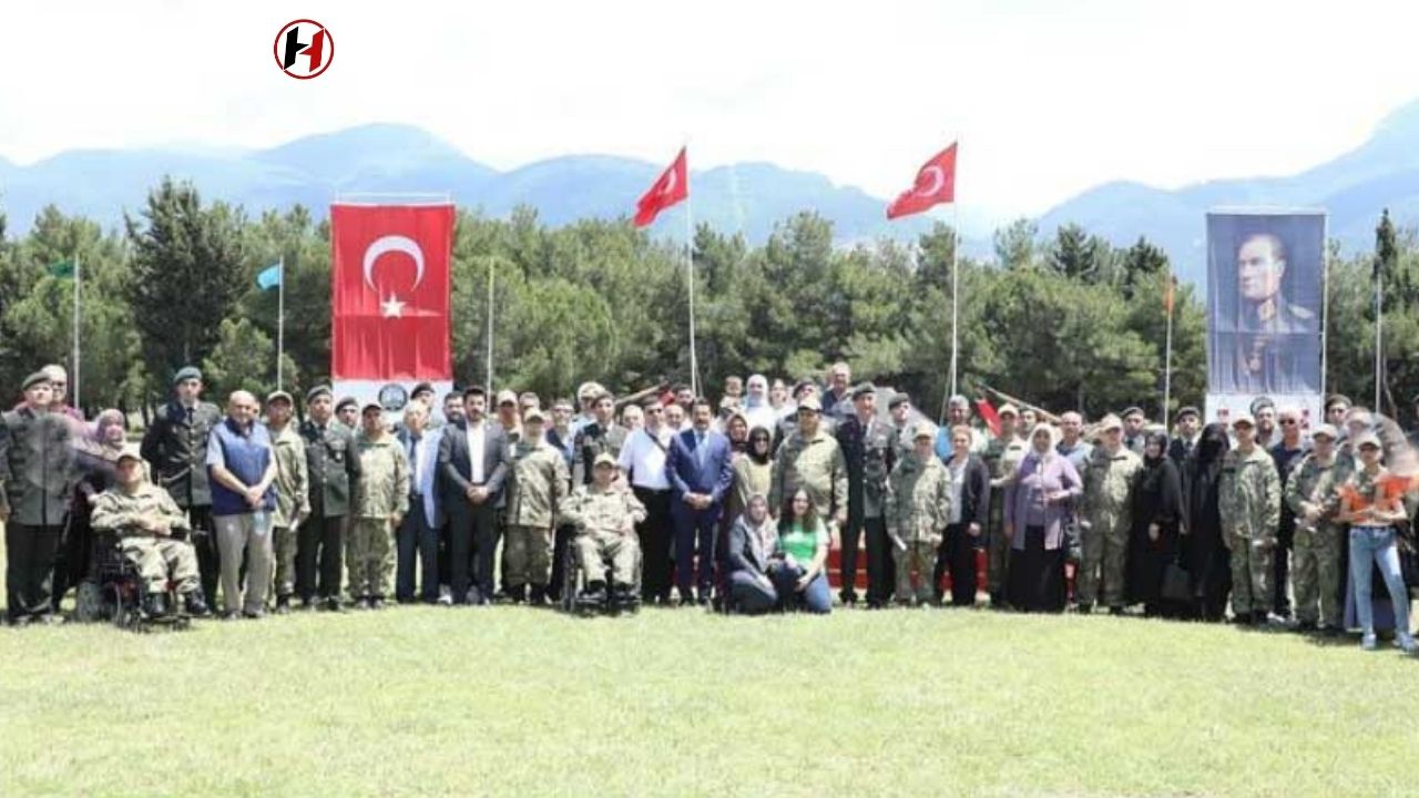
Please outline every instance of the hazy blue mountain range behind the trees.
[[[661, 169], [630, 158], [566, 155], [504, 172], [420, 128], [370, 124], [268, 149], [75, 149], [24, 166], [0, 158], [0, 209], [18, 231], [50, 203], [118, 224], [125, 212], [142, 209], [149, 187], [170, 175], [190, 179], [204, 199], [240, 203], [248, 212], [301, 203], [324, 216], [338, 196], [434, 190], [494, 217], [529, 204], [543, 222], [565, 224], [630, 216], [636, 197]], [[841, 243], [910, 239], [931, 224], [928, 216], [888, 223], [884, 197], [772, 163], [692, 172], [691, 183], [697, 223], [742, 231], [755, 243], [775, 223], [806, 209], [833, 220]], [[1391, 114], [1361, 146], [1298, 175], [1208, 180], [1181, 189], [1111, 182], [1060, 203], [1037, 222], [1046, 237], [1066, 223], [1078, 223], [1115, 246], [1147, 236], [1168, 251], [1182, 278], [1200, 284], [1203, 214], [1219, 206], [1321, 207], [1328, 212], [1328, 236], [1347, 251], [1371, 247], [1381, 207], [1389, 207], [1402, 224], [1419, 217], [1419, 101]], [[653, 231], [681, 237], [683, 224], [683, 214], [664, 214]], [[968, 236], [965, 250], [989, 256], [990, 243]]]

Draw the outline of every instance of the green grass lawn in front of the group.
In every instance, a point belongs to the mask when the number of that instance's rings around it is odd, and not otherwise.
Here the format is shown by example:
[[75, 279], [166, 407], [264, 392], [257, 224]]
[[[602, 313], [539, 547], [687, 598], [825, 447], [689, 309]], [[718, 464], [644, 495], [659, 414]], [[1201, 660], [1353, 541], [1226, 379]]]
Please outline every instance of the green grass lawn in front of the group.
[[0, 795], [1413, 794], [1419, 662], [971, 611], [0, 630]]

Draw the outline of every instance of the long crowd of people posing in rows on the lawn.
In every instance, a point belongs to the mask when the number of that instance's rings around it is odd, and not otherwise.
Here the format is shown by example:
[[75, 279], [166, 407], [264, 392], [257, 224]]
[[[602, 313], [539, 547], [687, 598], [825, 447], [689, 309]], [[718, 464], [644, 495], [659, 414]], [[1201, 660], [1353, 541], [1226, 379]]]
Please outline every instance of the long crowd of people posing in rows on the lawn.
[[938, 427], [847, 364], [826, 376], [729, 378], [715, 403], [424, 383], [389, 423], [329, 386], [299, 420], [281, 390], [223, 410], [189, 366], [133, 446], [123, 413], [87, 422], [47, 366], [0, 425], [7, 619], [60, 622], [95, 541], [116, 541], [150, 616], [546, 605], [576, 585], [590, 609], [1141, 608], [1415, 650], [1415, 449], [1344, 396], [1308, 430], [1264, 398], [1166, 430], [1138, 408], [1086, 423], [1009, 403], [982, 425], [952, 396]]

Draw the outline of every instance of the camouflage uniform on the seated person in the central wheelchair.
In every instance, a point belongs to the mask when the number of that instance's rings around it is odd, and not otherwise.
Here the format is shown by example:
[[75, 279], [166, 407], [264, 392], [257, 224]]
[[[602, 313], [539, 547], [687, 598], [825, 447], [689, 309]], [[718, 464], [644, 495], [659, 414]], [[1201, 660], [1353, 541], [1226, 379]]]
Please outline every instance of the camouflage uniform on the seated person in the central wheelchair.
[[562, 521], [576, 527], [576, 555], [587, 582], [602, 581], [610, 561], [612, 584], [636, 584], [640, 542], [634, 524], [646, 520], [646, 505], [629, 490], [596, 483], [578, 486], [562, 510]]

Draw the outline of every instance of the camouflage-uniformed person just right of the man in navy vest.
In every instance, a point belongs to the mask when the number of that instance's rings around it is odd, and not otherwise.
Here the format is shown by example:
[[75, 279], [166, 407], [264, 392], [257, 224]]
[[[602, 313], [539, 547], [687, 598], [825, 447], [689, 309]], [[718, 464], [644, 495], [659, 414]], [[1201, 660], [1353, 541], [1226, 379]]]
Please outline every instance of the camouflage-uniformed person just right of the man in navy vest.
[[[267, 396], [267, 429], [275, 454], [275, 514], [271, 544], [275, 547], [275, 612], [291, 611], [295, 592], [295, 540], [301, 523], [311, 514], [311, 480], [307, 476], [305, 440], [291, 423], [295, 400], [284, 390]], [[309, 605], [305, 605], [309, 609]]]

